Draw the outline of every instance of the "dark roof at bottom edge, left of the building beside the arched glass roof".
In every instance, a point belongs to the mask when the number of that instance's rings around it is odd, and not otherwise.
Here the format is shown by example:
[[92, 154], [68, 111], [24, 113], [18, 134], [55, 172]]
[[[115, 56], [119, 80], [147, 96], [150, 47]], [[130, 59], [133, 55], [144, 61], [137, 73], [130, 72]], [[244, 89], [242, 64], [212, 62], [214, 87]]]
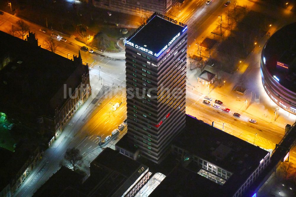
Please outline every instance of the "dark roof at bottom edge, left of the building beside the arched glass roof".
[[66, 167], [54, 173], [33, 196], [86, 196], [77, 188], [82, 184], [83, 176]]

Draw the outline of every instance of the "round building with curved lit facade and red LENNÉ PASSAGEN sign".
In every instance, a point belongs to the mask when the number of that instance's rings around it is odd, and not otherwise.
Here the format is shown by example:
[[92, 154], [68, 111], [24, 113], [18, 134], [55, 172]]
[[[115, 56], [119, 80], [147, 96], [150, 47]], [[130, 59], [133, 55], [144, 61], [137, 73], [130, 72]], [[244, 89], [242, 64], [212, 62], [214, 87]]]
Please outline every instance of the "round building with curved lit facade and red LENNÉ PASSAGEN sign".
[[274, 33], [261, 53], [260, 71], [268, 96], [296, 114], [296, 22]]

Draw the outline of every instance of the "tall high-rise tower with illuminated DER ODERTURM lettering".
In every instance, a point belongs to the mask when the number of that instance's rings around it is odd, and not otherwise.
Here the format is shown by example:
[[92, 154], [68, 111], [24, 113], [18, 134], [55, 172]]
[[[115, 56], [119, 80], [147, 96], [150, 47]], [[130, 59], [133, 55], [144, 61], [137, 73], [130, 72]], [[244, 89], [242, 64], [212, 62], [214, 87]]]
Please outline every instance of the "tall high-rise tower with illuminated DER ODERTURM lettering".
[[155, 13], [126, 39], [128, 141], [155, 163], [185, 126], [186, 30]]

